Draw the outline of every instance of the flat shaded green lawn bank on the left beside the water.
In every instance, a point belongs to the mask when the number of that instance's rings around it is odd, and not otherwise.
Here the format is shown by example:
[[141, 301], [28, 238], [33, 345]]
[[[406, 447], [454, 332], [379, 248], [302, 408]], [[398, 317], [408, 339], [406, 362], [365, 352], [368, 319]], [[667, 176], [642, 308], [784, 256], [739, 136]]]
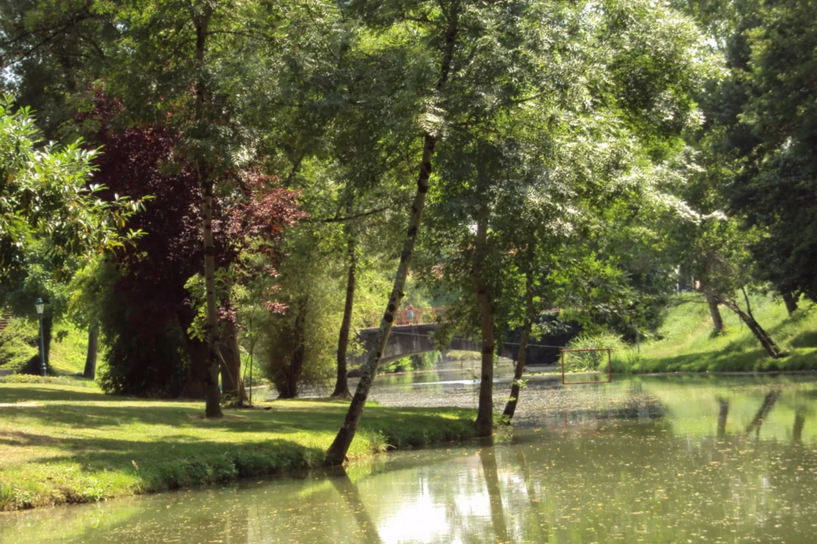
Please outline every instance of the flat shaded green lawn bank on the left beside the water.
[[[0, 510], [297, 472], [319, 466], [346, 413], [276, 400], [203, 419], [203, 404], [117, 398], [96, 386], [0, 383]], [[349, 457], [466, 439], [472, 410], [367, 405]]]

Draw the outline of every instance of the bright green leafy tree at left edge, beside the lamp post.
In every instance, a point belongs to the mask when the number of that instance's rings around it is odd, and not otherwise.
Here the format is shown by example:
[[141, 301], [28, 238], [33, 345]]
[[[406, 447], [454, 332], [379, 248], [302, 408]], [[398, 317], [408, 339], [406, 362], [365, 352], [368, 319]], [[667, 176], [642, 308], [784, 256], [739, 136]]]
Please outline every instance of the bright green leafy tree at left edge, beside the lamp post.
[[0, 100], [0, 278], [4, 305], [33, 317], [32, 301], [43, 297], [45, 357], [51, 323], [65, 311], [66, 285], [83, 261], [126, 247], [144, 234], [127, 230], [141, 200], [100, 198], [92, 184], [96, 152], [78, 140], [65, 147], [42, 145], [28, 109]]

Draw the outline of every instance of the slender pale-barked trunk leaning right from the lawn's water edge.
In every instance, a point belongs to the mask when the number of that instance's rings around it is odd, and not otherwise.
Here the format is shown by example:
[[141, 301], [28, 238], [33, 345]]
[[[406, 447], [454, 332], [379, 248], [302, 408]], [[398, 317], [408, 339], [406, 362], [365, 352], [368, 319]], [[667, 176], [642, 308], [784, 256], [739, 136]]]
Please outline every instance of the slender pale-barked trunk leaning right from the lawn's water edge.
[[[448, 29], [445, 31], [440, 78], [437, 80], [436, 86], [438, 92], [442, 91], [446, 80], [449, 78], [454, 41], [457, 37], [458, 7], [456, 4], [454, 6], [452, 12], [449, 14]], [[420, 232], [422, 208], [426, 203], [428, 181], [431, 176], [431, 158], [434, 156], [434, 148], [436, 145], [436, 136], [426, 133], [422, 148], [420, 172], [417, 174], [417, 192], [414, 194], [411, 215], [408, 218], [408, 230], [406, 231], [403, 250], [400, 252], [400, 265], [397, 266], [395, 283], [391, 288], [389, 302], [386, 305], [386, 311], [383, 313], [380, 328], [377, 331], [377, 340], [375, 341], [375, 346], [377, 347], [368, 353], [366, 363], [364, 363], [360, 372], [360, 379], [358, 381], [357, 390], [355, 390], [355, 396], [352, 397], [349, 410], [346, 412], [346, 418], [343, 420], [341, 429], [337, 431], [337, 436], [335, 436], [332, 445], [329, 446], [326, 453], [324, 462], [328, 465], [341, 465], [346, 458], [349, 445], [352, 439], [355, 438], [355, 431], [357, 430], [360, 416], [363, 415], [364, 404], [366, 404], [368, 390], [372, 387], [374, 373], [377, 371], [377, 365], [380, 363], [383, 351], [386, 350], [386, 342], [389, 341], [389, 334], [391, 333], [391, 324], [395, 320], [395, 311], [400, 308], [400, 301], [403, 299], [403, 288], [405, 287], [406, 275], [408, 274], [408, 265], [411, 262], [411, 257], [414, 252], [414, 243], [417, 241], [417, 234]]]

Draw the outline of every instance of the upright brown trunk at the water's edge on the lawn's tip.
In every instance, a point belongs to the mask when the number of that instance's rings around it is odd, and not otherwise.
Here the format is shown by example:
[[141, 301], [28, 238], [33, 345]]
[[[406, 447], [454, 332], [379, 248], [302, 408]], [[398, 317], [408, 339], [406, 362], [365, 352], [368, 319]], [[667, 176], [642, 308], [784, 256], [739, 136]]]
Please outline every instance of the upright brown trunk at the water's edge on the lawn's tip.
[[[483, 195], [487, 198], [487, 195]], [[484, 278], [485, 252], [488, 244], [488, 204], [483, 203], [476, 221], [474, 239], [474, 261], [471, 264], [471, 284], [474, 286], [476, 301], [480, 305], [480, 405], [476, 411], [477, 436], [493, 434], [493, 304]]]

